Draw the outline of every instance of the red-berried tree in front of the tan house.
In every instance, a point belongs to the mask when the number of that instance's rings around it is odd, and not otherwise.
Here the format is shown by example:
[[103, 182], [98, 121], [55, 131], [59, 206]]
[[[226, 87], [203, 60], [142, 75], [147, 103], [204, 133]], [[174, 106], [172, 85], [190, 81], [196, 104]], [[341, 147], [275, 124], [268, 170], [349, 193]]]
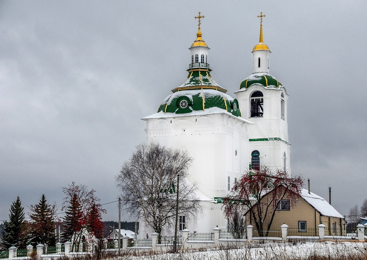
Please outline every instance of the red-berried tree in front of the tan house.
[[262, 236], [262, 231], [270, 230], [281, 200], [289, 200], [291, 207], [299, 204], [303, 183], [302, 177], [291, 177], [283, 169], [275, 172], [266, 166], [261, 166], [259, 170], [250, 169], [224, 198], [224, 215], [232, 218], [241, 212], [250, 213], [253, 224]]

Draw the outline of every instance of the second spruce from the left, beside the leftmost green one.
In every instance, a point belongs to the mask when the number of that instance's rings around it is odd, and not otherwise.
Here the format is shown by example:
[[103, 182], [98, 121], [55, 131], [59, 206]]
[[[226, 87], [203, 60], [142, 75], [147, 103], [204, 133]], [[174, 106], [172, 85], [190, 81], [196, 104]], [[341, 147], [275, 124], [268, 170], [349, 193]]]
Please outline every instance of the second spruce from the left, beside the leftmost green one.
[[48, 204], [46, 197], [42, 197], [38, 204], [30, 206], [30, 233], [32, 244], [43, 244], [48, 246], [55, 246], [55, 218], [56, 218], [56, 204]]

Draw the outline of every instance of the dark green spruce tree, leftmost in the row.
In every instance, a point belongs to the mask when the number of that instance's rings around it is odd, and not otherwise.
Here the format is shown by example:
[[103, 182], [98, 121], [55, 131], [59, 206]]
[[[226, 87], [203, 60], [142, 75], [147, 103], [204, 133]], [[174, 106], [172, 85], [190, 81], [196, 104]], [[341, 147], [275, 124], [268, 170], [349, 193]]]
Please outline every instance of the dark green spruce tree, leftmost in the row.
[[10, 206], [9, 220], [4, 221], [3, 241], [1, 242], [3, 247], [10, 248], [14, 245], [17, 248], [25, 248], [28, 245], [27, 226], [24, 208], [18, 196]]

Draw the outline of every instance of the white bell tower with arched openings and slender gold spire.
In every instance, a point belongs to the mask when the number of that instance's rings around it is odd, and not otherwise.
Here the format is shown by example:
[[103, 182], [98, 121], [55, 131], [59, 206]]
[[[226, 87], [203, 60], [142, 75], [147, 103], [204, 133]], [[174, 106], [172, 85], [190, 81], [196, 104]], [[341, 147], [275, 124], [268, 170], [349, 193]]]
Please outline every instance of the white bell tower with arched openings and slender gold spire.
[[253, 168], [265, 165], [290, 172], [286, 88], [269, 73], [270, 49], [264, 43], [260, 13], [259, 43], [252, 49], [252, 74], [235, 92], [241, 116], [254, 125], [249, 127], [248, 162]]

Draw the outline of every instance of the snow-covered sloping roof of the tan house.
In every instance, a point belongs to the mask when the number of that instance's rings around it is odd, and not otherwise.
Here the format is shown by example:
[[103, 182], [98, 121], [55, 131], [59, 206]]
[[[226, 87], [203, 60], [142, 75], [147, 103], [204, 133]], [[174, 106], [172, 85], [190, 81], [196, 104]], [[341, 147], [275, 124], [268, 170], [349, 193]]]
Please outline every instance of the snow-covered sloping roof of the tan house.
[[324, 198], [317, 196], [315, 193], [308, 193], [308, 190], [302, 189], [301, 196], [322, 215], [344, 219], [344, 217], [333, 206], [331, 206]]

